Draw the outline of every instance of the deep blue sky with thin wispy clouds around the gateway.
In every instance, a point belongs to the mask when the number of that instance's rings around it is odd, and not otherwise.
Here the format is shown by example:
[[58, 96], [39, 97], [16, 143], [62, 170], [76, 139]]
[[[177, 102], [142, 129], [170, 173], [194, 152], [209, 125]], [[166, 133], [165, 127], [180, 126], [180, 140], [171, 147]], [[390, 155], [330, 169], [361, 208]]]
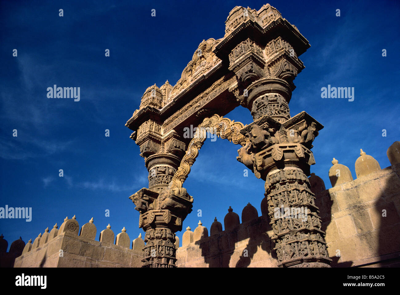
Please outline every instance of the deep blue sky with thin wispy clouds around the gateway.
[[[148, 186], [148, 172], [124, 124], [147, 87], [160, 87], [167, 79], [174, 85], [203, 39], [224, 36], [234, 6], [258, 10], [265, 3], [2, 1], [0, 207], [32, 207], [31, 222], [0, 219], [8, 244], [20, 236], [33, 240], [74, 214], [80, 226], [94, 217], [96, 239], [108, 223], [115, 234], [125, 226], [131, 240], [143, 232], [128, 197]], [[304, 110], [324, 125], [314, 141], [311, 172], [330, 188], [328, 170], [335, 157], [355, 178], [360, 148], [381, 168], [390, 166], [386, 150], [400, 140], [399, 2], [269, 3], [311, 44], [300, 56], [306, 68], [294, 80], [289, 104], [292, 116]], [[110, 57], [104, 56], [106, 48]], [[54, 84], [80, 87], [80, 101], [47, 98], [46, 89]], [[354, 101], [321, 98], [321, 87], [328, 84], [354, 87]], [[252, 121], [243, 107], [226, 117]], [[194, 197], [184, 228], [194, 230], [201, 219], [210, 229], [215, 216], [223, 224], [229, 206], [241, 216], [248, 202], [261, 215], [264, 183], [253, 174], [243, 176], [238, 148], [207, 139], [184, 183]]]

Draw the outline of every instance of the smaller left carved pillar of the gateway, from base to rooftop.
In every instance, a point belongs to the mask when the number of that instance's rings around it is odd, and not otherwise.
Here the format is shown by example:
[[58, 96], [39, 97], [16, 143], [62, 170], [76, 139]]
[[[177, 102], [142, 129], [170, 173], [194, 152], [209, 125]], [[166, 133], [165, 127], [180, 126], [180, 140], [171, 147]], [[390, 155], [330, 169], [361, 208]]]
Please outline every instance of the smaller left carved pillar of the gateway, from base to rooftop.
[[192, 211], [193, 198], [186, 189], [168, 188], [190, 141], [175, 130], [163, 133], [159, 109], [168, 102], [171, 89], [168, 81], [160, 88], [146, 89], [140, 109], [126, 123], [134, 130], [131, 138], [140, 146], [148, 170], [148, 188], [129, 197], [140, 212], [139, 227], [146, 232], [143, 267], [175, 266], [175, 232], [182, 230], [184, 218]]

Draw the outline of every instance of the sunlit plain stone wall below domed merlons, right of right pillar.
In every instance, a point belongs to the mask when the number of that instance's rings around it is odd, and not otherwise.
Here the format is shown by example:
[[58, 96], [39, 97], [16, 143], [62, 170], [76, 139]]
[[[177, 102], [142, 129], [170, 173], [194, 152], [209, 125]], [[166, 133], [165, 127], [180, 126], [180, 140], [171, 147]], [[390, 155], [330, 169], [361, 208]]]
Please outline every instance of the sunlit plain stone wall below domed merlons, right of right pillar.
[[400, 266], [399, 174], [396, 164], [316, 195], [332, 267]]

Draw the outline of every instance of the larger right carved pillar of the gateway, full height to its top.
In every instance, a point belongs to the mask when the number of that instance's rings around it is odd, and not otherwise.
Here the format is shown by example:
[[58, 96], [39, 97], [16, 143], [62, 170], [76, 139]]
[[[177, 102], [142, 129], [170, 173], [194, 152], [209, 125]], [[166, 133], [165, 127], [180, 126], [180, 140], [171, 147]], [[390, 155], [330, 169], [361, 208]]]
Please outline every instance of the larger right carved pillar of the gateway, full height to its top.
[[[293, 80], [304, 69], [298, 56], [310, 45], [269, 4], [260, 10], [235, 7], [226, 20], [225, 33], [216, 55], [226, 61], [228, 55], [229, 70], [237, 78], [229, 90], [254, 119], [240, 131], [248, 141], [238, 150], [238, 160], [265, 180], [264, 204], [268, 204], [274, 229], [278, 265], [329, 267], [307, 178], [315, 163], [312, 141], [323, 126], [304, 111], [290, 117], [288, 107], [296, 88]], [[289, 210], [288, 218], [280, 216], [281, 207]], [[293, 217], [290, 210], [298, 214]]]

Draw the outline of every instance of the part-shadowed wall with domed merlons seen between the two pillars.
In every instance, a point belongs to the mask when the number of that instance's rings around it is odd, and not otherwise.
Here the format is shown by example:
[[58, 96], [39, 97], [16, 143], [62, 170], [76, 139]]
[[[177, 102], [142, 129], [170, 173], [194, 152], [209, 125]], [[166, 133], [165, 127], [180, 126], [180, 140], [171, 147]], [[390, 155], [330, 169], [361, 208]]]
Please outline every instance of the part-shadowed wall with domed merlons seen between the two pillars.
[[[258, 217], [258, 212], [250, 203], [242, 211], [242, 224], [239, 216], [228, 209], [224, 218], [225, 230], [215, 218], [208, 230], [199, 226], [182, 236], [182, 256], [178, 264], [182, 267], [276, 267], [276, 256], [272, 251], [272, 228], [267, 216]], [[187, 262], [185, 265], [182, 261]]]

